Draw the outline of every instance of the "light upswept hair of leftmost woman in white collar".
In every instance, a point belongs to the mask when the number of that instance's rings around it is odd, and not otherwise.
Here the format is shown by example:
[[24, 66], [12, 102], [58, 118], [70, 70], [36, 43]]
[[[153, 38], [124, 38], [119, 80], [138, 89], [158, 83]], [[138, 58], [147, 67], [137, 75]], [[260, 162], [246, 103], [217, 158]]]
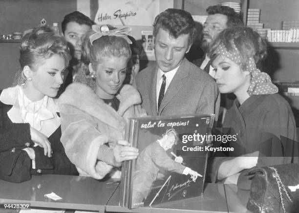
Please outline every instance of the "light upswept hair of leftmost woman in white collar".
[[20, 46], [21, 67], [15, 77], [14, 85], [25, 83], [24, 66], [29, 66], [31, 70], [36, 71], [43, 65], [45, 59], [54, 54], [62, 56], [65, 66], [68, 65], [71, 56], [62, 36], [56, 35], [48, 26], [38, 26], [25, 31]]

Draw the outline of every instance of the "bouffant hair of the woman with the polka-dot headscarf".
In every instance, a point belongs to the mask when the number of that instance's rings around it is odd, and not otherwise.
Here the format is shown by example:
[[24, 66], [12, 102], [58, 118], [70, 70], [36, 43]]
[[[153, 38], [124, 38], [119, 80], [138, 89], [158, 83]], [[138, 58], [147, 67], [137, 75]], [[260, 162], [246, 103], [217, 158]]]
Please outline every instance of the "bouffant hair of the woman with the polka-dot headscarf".
[[212, 54], [221, 43], [228, 51], [238, 51], [241, 58], [239, 65], [243, 70], [245, 70], [250, 57], [253, 57], [258, 65], [267, 56], [267, 43], [250, 27], [236, 26], [220, 32], [212, 44]]

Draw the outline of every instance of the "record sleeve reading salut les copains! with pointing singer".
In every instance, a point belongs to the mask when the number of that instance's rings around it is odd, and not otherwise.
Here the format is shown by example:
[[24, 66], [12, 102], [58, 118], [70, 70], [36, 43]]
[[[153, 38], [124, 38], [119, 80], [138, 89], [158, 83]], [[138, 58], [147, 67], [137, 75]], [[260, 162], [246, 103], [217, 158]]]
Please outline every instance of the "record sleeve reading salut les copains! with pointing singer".
[[126, 139], [139, 149], [122, 168], [121, 205], [129, 209], [200, 196], [214, 114], [127, 120]]

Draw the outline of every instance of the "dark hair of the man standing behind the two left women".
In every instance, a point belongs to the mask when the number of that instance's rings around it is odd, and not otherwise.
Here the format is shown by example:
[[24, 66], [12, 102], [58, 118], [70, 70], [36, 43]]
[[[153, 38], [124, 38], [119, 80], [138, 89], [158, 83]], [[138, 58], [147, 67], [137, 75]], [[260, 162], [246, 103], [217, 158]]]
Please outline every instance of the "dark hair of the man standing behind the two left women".
[[61, 23], [61, 29], [64, 33], [65, 29], [66, 29], [66, 25], [71, 22], [74, 21], [80, 25], [82, 24], [86, 24], [88, 26], [92, 26], [94, 23], [94, 21], [90, 20], [87, 16], [85, 16], [83, 13], [80, 13], [79, 11], [75, 11], [72, 13], [67, 14], [66, 16], [64, 16], [64, 21]]

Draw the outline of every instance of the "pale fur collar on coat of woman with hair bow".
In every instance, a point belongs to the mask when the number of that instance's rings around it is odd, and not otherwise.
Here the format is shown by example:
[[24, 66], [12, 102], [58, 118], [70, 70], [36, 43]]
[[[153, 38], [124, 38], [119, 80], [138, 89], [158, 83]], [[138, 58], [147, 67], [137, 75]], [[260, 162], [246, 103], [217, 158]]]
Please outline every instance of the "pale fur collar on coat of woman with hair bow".
[[125, 122], [122, 116], [126, 110], [130, 106], [140, 104], [141, 97], [137, 89], [131, 85], [123, 85], [117, 97], [120, 100], [120, 106], [116, 112], [111, 106], [108, 106], [99, 98], [95, 91], [89, 86], [80, 83], [72, 83], [67, 86], [64, 93], [58, 99], [58, 103], [59, 105], [68, 104], [76, 106], [89, 115], [119, 129], [119, 124], [124, 124]]

